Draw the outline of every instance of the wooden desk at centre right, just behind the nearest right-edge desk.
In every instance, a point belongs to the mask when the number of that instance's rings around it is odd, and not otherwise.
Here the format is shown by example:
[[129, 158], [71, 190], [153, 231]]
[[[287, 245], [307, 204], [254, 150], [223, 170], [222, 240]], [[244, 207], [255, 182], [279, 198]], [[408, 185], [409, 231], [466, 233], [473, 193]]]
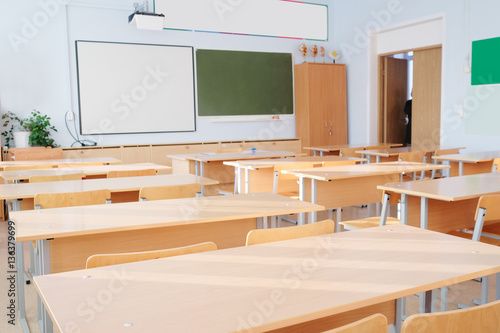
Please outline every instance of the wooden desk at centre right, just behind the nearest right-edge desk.
[[[382, 195], [377, 189], [378, 185], [397, 182], [404, 173], [447, 168], [435, 164], [388, 162], [283, 172], [295, 175], [299, 179], [301, 200], [319, 203], [327, 208], [337, 208], [338, 225], [341, 220], [341, 207], [380, 203]], [[304, 222], [303, 217], [300, 221]], [[314, 213], [311, 214], [310, 221], [316, 221]]]

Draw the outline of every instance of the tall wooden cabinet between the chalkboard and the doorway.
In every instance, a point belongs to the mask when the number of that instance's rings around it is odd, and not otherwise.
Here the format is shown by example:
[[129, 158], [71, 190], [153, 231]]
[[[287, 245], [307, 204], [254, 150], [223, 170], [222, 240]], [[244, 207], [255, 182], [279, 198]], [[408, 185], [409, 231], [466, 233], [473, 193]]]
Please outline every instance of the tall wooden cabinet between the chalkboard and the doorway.
[[297, 137], [304, 147], [346, 144], [346, 66], [296, 65], [295, 112]]

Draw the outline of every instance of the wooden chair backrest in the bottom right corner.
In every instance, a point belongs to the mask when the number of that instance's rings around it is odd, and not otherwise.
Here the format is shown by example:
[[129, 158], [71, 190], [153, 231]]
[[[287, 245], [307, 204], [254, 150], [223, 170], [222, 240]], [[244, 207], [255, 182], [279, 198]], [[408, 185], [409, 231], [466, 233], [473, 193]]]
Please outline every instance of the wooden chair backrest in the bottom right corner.
[[465, 310], [417, 314], [408, 317], [402, 333], [498, 333], [500, 301]]

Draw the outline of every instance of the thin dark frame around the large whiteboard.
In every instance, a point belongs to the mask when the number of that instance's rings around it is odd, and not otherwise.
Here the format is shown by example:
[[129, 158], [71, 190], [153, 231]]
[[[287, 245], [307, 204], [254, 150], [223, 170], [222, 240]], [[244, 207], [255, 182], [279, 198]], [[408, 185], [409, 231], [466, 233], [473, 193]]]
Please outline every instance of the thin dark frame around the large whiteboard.
[[[165, 47], [178, 47], [178, 48], [190, 48], [191, 49], [191, 65], [193, 69], [193, 129], [186, 131], [144, 131], [144, 132], [118, 132], [118, 133], [84, 133], [82, 126], [82, 104], [80, 96], [80, 68], [78, 59], [78, 43], [101, 43], [101, 44], [121, 44], [121, 45], [145, 45], [145, 46], [165, 46]], [[78, 118], [79, 118], [79, 129], [80, 135], [127, 135], [127, 134], [158, 134], [158, 133], [194, 133], [197, 131], [197, 87], [196, 87], [196, 68], [195, 68], [195, 53], [193, 46], [186, 45], [169, 45], [169, 44], [152, 44], [152, 43], [130, 43], [130, 42], [111, 42], [111, 41], [99, 41], [99, 40], [85, 40], [77, 39], [75, 40], [75, 56], [76, 56], [76, 84], [78, 93]]]

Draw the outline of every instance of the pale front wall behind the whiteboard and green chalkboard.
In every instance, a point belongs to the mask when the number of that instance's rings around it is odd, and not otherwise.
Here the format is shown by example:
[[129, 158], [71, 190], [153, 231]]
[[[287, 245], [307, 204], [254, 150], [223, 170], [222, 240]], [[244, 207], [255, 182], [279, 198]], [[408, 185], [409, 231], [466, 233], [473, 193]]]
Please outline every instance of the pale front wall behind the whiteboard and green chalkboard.
[[[298, 40], [182, 31], [139, 31], [127, 23], [127, 16], [133, 11], [134, 0], [79, 0], [70, 1], [69, 5], [66, 2], [67, 0], [0, 2], [0, 31], [4, 37], [0, 39], [1, 110], [27, 115], [36, 108], [49, 114], [59, 130], [55, 135], [56, 141], [63, 146], [73, 142], [65, 129], [64, 114], [68, 110], [78, 113], [73, 46], [75, 39], [292, 52], [297, 61], [302, 61], [298, 53], [301, 41]], [[327, 0], [310, 2], [329, 3]], [[49, 17], [47, 22], [44, 21], [46, 17]], [[331, 8], [329, 17], [332, 20]], [[333, 24], [330, 24], [330, 37], [332, 33]], [[11, 41], [13, 38], [14, 41]], [[328, 47], [330, 43], [318, 44]], [[294, 118], [288, 116], [283, 119], [275, 122], [214, 123], [198, 118], [196, 133], [111, 135], [94, 139], [100, 145], [115, 145], [295, 137]]]

